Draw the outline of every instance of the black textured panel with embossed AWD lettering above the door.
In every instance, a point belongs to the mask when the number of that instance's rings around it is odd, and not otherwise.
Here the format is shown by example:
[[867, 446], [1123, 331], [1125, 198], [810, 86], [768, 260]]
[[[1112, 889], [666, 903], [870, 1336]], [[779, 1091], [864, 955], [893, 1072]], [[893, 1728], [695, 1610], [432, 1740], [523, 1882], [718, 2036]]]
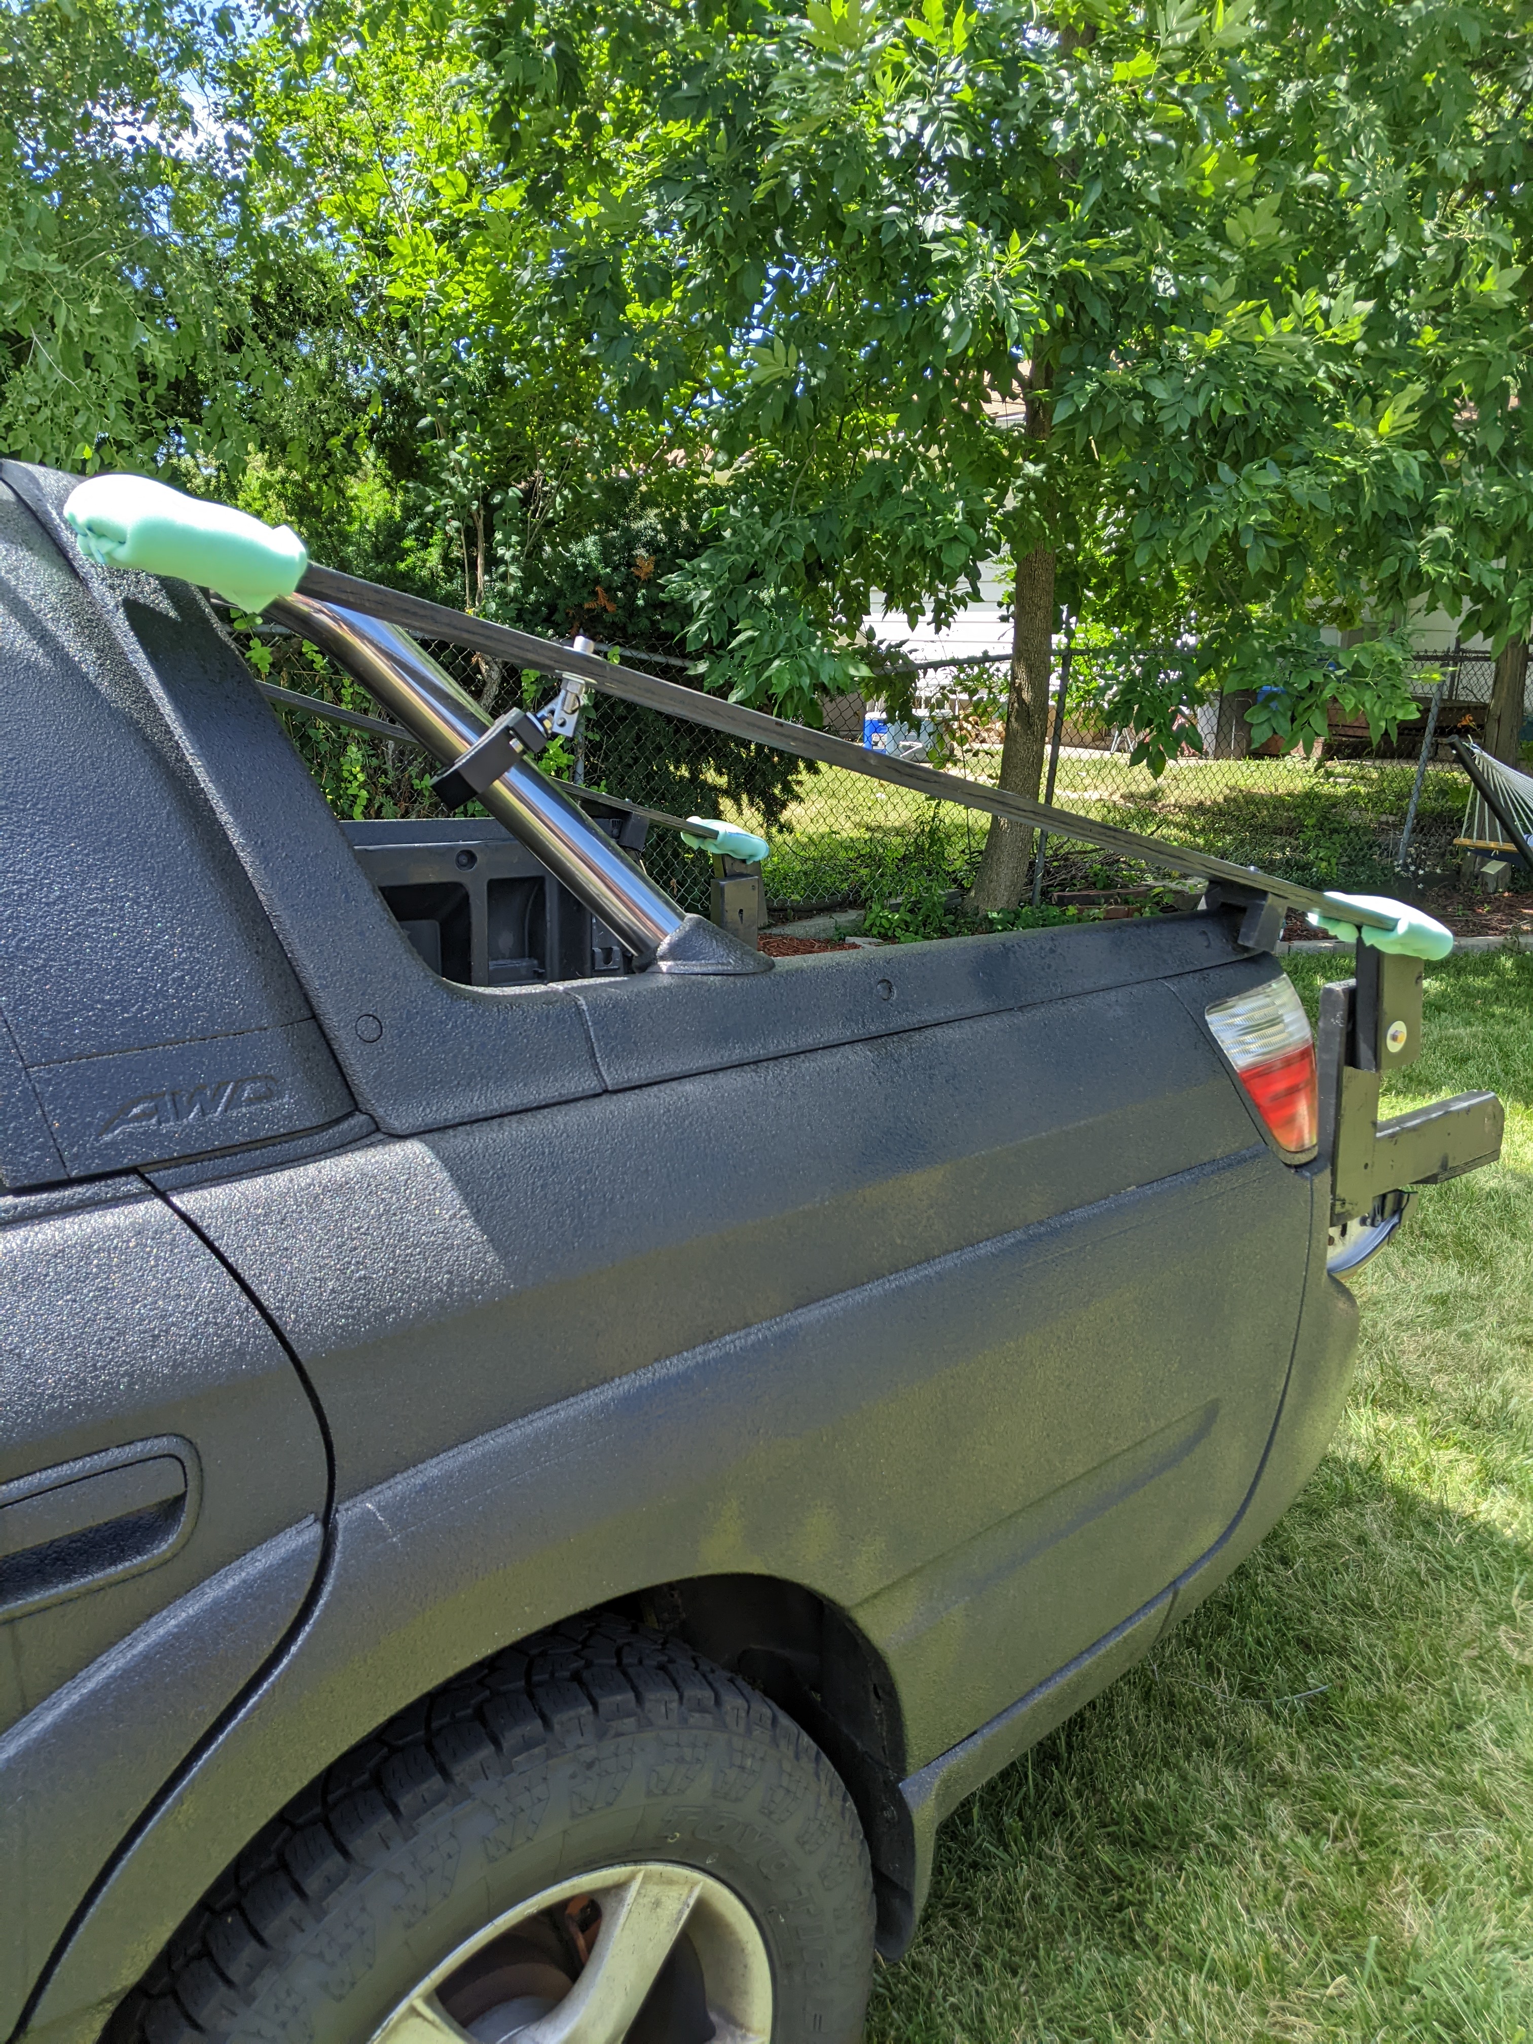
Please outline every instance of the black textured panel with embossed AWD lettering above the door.
[[[153, 587], [153, 585], [151, 585]], [[74, 1175], [235, 1147], [352, 1102], [143, 685], [0, 491], [0, 1006]], [[39, 1143], [6, 1181], [59, 1175]]]

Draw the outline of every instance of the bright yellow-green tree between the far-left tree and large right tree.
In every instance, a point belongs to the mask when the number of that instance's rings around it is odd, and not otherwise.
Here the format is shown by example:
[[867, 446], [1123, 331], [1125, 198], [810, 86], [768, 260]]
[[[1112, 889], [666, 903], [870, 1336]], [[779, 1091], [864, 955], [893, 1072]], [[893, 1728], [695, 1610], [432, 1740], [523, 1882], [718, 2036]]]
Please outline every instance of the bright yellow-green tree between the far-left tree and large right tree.
[[343, 394], [339, 419], [292, 417], [266, 437], [247, 497], [333, 560], [364, 566], [382, 548], [397, 574], [484, 609], [511, 527], [558, 495], [550, 460], [568, 452], [572, 407], [536, 321], [515, 317], [525, 237], [462, 90], [466, 61], [433, 8], [372, 33], [317, 14], [245, 47], [229, 98], [251, 135], [247, 211], [333, 274]]

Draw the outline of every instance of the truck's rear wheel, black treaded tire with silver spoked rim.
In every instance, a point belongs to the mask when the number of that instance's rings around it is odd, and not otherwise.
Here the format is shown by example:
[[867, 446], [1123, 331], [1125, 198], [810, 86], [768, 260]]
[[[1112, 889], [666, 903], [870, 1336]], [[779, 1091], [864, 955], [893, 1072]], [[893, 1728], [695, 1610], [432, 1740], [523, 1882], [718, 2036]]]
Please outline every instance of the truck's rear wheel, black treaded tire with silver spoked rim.
[[119, 2044], [838, 2044], [873, 1887], [824, 1754], [615, 1619], [450, 1682], [256, 1846]]

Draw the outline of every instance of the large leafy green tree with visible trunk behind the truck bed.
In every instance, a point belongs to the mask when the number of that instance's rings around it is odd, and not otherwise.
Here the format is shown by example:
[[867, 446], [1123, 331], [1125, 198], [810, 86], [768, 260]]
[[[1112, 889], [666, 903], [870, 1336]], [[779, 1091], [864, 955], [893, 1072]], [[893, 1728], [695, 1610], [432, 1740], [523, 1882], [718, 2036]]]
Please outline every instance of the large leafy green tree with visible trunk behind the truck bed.
[[[1002, 783], [1034, 793], [1059, 603], [1141, 638], [1179, 609], [1286, 740], [1329, 697], [1412, 711], [1412, 603], [1527, 628], [1521, 25], [515, 0], [480, 53], [615, 403], [724, 464], [687, 595], [736, 693], [803, 713], [873, 587], [942, 617], [1004, 542]], [[1153, 677], [1110, 713], [1153, 766], [1198, 742]], [[979, 905], [1026, 838], [991, 832]]]

